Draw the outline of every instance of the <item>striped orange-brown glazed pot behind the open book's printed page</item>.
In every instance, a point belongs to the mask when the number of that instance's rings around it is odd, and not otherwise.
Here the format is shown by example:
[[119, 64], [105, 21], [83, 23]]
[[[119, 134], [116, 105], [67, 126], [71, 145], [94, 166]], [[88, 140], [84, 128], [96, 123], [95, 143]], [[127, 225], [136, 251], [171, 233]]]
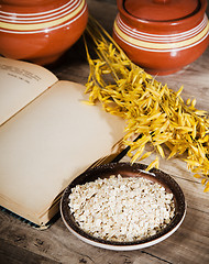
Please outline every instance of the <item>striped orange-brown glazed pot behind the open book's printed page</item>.
[[82, 34], [86, 0], [3, 0], [0, 54], [40, 65], [54, 63]]

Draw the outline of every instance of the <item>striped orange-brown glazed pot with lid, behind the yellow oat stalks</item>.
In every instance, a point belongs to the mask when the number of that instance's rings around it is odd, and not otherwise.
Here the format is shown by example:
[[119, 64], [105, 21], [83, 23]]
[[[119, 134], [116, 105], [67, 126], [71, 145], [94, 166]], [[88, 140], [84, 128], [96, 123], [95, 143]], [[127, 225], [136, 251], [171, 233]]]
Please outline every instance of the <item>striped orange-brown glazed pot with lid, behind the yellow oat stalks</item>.
[[131, 61], [157, 75], [175, 73], [208, 47], [207, 0], [118, 0], [113, 38]]

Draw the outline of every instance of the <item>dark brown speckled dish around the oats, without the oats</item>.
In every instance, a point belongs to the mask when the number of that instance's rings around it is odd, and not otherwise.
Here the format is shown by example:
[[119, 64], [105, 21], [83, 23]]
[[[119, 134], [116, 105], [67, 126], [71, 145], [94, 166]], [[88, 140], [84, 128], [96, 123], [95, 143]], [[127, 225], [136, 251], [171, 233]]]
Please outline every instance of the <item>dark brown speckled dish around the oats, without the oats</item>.
[[[107, 250], [116, 250], [116, 251], [132, 251], [140, 250], [156, 243], [162, 242], [172, 235], [182, 224], [185, 215], [186, 215], [186, 202], [183, 190], [178, 186], [178, 184], [167, 174], [158, 170], [152, 169], [152, 173], [145, 173], [146, 168], [143, 164], [129, 164], [129, 163], [110, 163], [101, 166], [97, 166], [95, 168], [90, 168], [84, 174], [76, 177], [65, 189], [64, 195], [61, 200], [61, 215], [62, 219], [67, 227], [67, 229], [75, 234], [78, 239], [84, 242], [107, 249]], [[95, 238], [89, 233], [85, 232], [78, 223], [75, 221], [73, 213], [70, 213], [69, 209], [69, 195], [72, 194], [72, 188], [76, 185], [82, 185], [87, 182], [95, 182], [97, 178], [106, 178], [111, 175], [120, 174], [122, 177], [145, 177], [152, 182], [157, 182], [160, 185], [164, 186], [167, 193], [173, 193], [174, 202], [175, 202], [175, 216], [166, 226], [166, 228], [162, 229], [154, 235], [151, 235], [146, 239], [133, 241], [133, 242], [113, 242], [99, 238]]]

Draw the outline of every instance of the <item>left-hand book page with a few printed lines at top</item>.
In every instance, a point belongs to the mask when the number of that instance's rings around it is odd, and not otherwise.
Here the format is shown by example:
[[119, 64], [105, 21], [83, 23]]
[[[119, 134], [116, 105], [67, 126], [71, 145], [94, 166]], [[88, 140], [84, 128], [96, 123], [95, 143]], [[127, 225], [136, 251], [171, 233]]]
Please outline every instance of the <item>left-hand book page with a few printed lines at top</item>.
[[0, 57], [0, 125], [56, 81], [42, 66]]

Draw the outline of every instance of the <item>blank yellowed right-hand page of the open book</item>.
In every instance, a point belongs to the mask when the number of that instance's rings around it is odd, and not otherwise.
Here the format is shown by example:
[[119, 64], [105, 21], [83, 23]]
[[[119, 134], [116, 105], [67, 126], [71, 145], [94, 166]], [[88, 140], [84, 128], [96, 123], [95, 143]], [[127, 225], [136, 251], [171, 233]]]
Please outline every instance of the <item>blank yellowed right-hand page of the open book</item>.
[[101, 105], [85, 105], [84, 91], [81, 85], [58, 81], [0, 128], [0, 197], [22, 211], [42, 215], [122, 139], [124, 120]]

